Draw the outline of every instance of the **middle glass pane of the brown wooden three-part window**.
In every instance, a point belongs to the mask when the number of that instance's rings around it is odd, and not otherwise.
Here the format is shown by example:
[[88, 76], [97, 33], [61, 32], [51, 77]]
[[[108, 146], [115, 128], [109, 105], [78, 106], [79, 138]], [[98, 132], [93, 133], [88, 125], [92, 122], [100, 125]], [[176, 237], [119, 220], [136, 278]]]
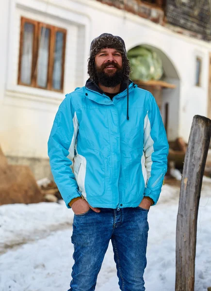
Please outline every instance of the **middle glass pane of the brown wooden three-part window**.
[[49, 67], [49, 28], [42, 27], [37, 61], [37, 85], [47, 87]]

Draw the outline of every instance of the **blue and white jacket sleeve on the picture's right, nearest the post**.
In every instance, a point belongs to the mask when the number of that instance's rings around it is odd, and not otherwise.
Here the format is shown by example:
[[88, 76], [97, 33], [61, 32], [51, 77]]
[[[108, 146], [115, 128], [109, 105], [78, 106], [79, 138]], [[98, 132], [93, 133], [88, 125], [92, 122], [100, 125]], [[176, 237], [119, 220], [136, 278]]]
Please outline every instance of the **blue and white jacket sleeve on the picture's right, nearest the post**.
[[154, 205], [158, 202], [163, 178], [167, 171], [168, 141], [155, 98], [149, 93], [149, 106], [144, 125], [144, 153], [147, 182], [144, 196]]

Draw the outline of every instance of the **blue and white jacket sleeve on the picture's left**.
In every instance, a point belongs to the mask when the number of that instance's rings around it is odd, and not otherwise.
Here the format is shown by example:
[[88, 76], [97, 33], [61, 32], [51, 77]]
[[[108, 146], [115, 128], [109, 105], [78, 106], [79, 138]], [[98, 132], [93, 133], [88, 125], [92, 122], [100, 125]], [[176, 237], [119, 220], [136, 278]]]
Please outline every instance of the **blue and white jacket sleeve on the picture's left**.
[[48, 142], [48, 154], [53, 178], [65, 201], [68, 203], [80, 197], [73, 173], [73, 158], [79, 123], [71, 104], [71, 96], [67, 95], [59, 107], [53, 122]]

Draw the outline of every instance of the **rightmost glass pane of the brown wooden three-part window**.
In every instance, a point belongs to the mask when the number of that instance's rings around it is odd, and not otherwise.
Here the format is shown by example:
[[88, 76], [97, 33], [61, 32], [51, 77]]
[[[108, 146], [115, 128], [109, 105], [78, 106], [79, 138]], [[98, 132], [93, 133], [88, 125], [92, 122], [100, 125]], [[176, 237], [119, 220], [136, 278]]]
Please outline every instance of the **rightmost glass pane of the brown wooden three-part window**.
[[53, 85], [53, 88], [57, 89], [57, 90], [62, 89], [63, 48], [64, 48], [64, 33], [63, 32], [56, 32], [52, 85]]

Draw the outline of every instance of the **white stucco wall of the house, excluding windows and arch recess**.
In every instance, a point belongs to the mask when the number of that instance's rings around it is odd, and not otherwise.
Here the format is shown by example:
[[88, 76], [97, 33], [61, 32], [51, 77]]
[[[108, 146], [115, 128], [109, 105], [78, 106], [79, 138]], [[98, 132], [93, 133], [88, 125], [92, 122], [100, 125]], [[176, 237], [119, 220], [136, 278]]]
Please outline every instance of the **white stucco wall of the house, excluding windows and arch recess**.
[[[7, 155], [47, 158], [58, 106], [65, 93], [84, 84], [91, 40], [102, 32], [120, 35], [127, 49], [158, 48], [174, 64], [180, 82], [169, 101], [172, 139], [188, 141], [193, 116], [207, 116], [209, 44], [94, 0], [0, 0], [0, 7], [0, 145]], [[17, 85], [20, 16], [67, 30], [64, 94]], [[196, 56], [203, 59], [202, 87], [195, 86]]]

